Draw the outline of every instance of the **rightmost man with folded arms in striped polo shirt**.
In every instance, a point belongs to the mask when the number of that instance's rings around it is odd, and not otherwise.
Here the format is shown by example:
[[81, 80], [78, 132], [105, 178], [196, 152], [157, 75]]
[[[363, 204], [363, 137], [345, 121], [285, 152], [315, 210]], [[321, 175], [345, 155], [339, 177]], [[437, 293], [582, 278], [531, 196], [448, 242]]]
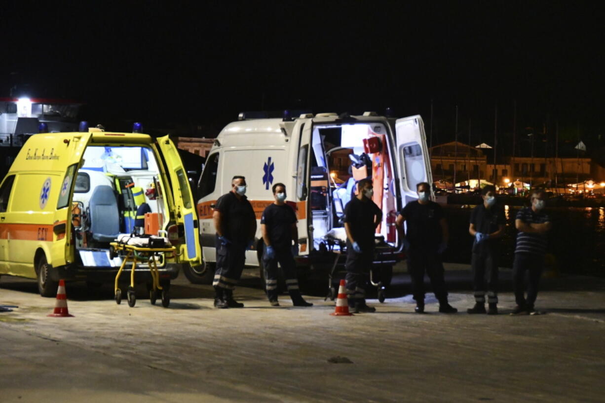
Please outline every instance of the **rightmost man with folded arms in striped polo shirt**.
[[[535, 298], [544, 267], [547, 234], [551, 230], [551, 219], [544, 212], [546, 192], [541, 189], [532, 191], [531, 207], [521, 209], [515, 218], [517, 246], [512, 262], [512, 286], [517, 306], [512, 315], [531, 315], [534, 312]], [[527, 298], [525, 298], [525, 272], [529, 272]]]

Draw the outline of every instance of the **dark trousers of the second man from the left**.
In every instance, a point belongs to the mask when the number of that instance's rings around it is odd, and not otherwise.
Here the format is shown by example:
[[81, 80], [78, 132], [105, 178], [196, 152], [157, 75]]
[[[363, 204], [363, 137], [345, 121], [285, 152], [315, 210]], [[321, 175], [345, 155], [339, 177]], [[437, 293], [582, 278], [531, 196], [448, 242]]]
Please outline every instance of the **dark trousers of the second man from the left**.
[[286, 287], [290, 297], [294, 295], [300, 295], [298, 288], [298, 278], [296, 278], [296, 266], [294, 258], [292, 257], [292, 251], [289, 247], [283, 249], [275, 249], [275, 257], [273, 259], [267, 258], [267, 249], [265, 247], [265, 253], [263, 254], [263, 266], [265, 275], [265, 284], [267, 289], [267, 297], [269, 301], [277, 300], [279, 289], [277, 284], [278, 278], [278, 267], [280, 264], [281, 270], [284, 272], [286, 278]]

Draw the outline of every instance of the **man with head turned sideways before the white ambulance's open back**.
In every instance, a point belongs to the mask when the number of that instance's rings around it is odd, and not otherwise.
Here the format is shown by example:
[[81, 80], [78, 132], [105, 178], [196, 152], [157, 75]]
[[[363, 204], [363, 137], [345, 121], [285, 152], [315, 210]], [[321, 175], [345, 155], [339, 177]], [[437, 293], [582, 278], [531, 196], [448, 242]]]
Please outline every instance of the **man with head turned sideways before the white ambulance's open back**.
[[353, 312], [375, 312], [365, 303], [370, 268], [374, 260], [376, 226], [382, 220], [382, 211], [372, 201], [372, 181], [362, 179], [358, 194], [344, 209], [344, 228], [347, 231], [347, 300]]

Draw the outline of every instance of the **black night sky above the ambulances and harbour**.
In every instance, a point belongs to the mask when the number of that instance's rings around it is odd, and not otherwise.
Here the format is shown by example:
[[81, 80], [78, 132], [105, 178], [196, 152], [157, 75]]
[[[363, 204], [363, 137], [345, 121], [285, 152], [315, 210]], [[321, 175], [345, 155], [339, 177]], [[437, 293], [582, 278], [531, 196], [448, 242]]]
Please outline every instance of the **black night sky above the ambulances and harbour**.
[[[420, 113], [434, 139], [604, 132], [598, 2], [4, 2], [0, 96], [213, 136], [242, 110]], [[101, 5], [103, 4], [103, 5]], [[118, 5], [120, 4], [120, 5]], [[201, 127], [201, 133], [198, 130]]]

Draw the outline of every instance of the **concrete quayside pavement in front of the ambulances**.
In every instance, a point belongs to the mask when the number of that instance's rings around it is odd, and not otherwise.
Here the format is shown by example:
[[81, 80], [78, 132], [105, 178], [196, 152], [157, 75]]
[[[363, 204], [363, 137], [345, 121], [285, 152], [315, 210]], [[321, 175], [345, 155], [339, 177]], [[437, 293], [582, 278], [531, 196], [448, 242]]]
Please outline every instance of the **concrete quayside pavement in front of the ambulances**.
[[[335, 318], [333, 303], [270, 307], [246, 270], [244, 309], [212, 308], [184, 277], [169, 309], [140, 288], [134, 308], [111, 290], [68, 284], [75, 318], [48, 318], [33, 281], [2, 277], [0, 402], [602, 402], [605, 280], [547, 280], [539, 316], [413, 313], [397, 274], [373, 314]], [[503, 273], [506, 278], [506, 272]], [[469, 273], [448, 271], [451, 303], [473, 305]], [[506, 280], [505, 280], [506, 281]], [[506, 289], [506, 288], [505, 288]], [[427, 296], [429, 297], [429, 296]], [[432, 295], [430, 295], [432, 297]], [[500, 295], [504, 313], [512, 294]], [[352, 364], [333, 364], [342, 356]]]

